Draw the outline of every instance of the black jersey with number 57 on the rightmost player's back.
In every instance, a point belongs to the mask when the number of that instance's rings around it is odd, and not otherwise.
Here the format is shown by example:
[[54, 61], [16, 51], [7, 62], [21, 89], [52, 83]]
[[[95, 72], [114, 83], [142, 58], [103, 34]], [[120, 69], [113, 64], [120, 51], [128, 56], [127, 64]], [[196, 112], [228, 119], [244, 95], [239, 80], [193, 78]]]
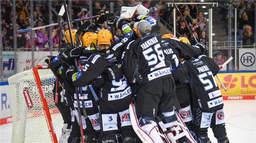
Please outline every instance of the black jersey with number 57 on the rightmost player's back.
[[223, 106], [222, 95], [214, 78], [219, 66], [213, 59], [201, 55], [198, 59], [183, 61], [180, 67], [180, 74], [184, 74], [184, 80], [190, 84], [193, 108], [214, 111]]

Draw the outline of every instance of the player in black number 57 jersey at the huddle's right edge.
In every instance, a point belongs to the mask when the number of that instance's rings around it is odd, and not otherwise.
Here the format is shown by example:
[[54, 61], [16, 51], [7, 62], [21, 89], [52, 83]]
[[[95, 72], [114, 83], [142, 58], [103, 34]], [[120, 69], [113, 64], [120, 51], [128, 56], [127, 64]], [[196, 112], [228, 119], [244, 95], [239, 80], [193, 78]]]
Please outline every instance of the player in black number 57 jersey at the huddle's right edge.
[[201, 55], [197, 59], [185, 59], [179, 68], [177, 72], [185, 77], [182, 81], [190, 84], [193, 104], [192, 129], [197, 136], [197, 142], [211, 143], [207, 135], [210, 126], [218, 143], [229, 143], [225, 129], [223, 99], [214, 78], [219, 66], [213, 59]]

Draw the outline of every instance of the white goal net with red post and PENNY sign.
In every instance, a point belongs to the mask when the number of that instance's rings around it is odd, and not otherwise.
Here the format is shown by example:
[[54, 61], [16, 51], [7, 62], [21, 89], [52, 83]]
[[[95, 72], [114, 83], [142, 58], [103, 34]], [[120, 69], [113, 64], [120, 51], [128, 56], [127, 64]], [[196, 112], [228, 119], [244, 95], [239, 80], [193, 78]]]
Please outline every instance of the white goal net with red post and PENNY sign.
[[12, 143], [57, 143], [63, 119], [55, 106], [55, 76], [38, 66], [9, 77]]

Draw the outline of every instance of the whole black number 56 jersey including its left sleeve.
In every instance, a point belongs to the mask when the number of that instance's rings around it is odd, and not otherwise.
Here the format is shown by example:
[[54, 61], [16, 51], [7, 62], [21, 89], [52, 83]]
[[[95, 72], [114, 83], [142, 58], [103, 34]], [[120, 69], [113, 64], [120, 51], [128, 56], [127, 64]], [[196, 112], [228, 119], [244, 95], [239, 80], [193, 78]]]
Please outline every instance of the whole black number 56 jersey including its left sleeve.
[[159, 34], [147, 33], [128, 43], [122, 66], [129, 82], [147, 83], [171, 76], [170, 60], [161, 40]]

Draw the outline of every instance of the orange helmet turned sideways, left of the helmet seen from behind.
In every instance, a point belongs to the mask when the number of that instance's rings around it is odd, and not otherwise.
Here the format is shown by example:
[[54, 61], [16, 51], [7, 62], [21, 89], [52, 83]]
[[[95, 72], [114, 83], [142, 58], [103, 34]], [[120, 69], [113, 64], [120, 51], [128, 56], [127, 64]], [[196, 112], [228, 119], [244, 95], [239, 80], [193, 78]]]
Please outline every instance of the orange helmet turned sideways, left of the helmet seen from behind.
[[83, 34], [82, 45], [84, 47], [90, 47], [91, 50], [95, 50], [97, 45], [97, 34], [93, 32], [86, 32], [85, 34]]

